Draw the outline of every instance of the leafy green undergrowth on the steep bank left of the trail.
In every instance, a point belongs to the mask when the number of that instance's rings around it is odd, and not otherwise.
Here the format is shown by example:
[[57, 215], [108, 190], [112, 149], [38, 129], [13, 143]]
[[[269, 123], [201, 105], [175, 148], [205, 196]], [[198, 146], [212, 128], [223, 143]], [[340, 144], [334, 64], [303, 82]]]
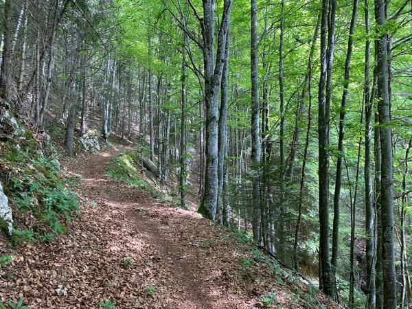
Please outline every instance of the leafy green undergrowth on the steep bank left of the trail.
[[[79, 211], [78, 196], [68, 187], [80, 179], [62, 173], [52, 144], [43, 147], [25, 132], [23, 139], [1, 142], [0, 181], [13, 210], [12, 244], [52, 241]], [[8, 236], [8, 230], [3, 233]]]

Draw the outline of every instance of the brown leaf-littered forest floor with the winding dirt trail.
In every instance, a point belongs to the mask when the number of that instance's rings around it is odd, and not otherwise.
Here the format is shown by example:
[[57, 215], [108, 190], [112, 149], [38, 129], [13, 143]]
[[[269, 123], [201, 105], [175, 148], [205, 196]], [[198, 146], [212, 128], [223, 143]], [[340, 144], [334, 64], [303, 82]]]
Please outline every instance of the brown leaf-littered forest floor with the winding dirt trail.
[[82, 176], [82, 212], [54, 242], [12, 251], [12, 264], [0, 268], [3, 301], [23, 298], [29, 308], [233, 309], [261, 306], [262, 295], [273, 291], [269, 308], [337, 308], [319, 293], [305, 299], [306, 284], [262, 262], [263, 253], [252, 253], [235, 233], [108, 178], [111, 157], [125, 150], [62, 164]]

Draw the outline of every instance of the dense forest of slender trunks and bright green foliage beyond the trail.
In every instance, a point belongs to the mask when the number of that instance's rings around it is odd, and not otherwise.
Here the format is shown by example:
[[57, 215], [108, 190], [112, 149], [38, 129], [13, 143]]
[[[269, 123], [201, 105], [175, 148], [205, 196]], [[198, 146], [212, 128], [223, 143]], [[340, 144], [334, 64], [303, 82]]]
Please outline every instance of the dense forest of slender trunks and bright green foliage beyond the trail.
[[69, 155], [147, 141], [182, 207], [196, 187], [349, 308], [409, 308], [411, 1], [2, 4], [1, 115]]

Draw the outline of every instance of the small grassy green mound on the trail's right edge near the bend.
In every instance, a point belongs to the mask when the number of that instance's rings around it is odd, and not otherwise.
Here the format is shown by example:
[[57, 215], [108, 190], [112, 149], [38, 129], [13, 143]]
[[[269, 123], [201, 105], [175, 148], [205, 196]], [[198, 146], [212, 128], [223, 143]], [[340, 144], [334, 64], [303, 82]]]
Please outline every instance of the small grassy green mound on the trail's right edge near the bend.
[[123, 152], [118, 157], [112, 158], [106, 173], [109, 177], [120, 179], [128, 185], [141, 187], [158, 201], [170, 202], [169, 197], [157, 191], [141, 176], [141, 160], [137, 151]]

